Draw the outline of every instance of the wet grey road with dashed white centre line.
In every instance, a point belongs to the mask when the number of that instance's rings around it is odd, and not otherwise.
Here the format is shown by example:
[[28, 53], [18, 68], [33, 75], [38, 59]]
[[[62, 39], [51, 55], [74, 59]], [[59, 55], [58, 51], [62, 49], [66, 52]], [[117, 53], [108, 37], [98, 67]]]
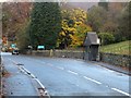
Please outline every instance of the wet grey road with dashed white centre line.
[[83, 60], [3, 54], [23, 64], [51, 96], [129, 96], [129, 77]]

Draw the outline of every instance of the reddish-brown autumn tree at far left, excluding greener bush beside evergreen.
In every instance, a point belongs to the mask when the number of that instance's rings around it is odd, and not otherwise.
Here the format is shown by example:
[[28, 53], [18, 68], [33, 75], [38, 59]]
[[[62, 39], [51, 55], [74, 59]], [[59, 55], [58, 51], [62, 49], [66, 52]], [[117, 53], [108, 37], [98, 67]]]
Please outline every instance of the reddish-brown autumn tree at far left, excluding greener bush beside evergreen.
[[[32, 2], [4, 2], [2, 4], [2, 36], [15, 41], [21, 25], [29, 19]], [[13, 25], [12, 25], [13, 24]]]

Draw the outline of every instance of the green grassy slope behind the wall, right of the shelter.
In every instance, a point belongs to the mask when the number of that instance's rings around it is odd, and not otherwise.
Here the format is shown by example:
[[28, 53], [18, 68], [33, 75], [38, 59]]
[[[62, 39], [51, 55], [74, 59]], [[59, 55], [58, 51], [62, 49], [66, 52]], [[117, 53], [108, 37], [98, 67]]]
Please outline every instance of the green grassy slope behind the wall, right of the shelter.
[[[100, 47], [100, 52], [110, 52], [117, 54], [129, 54], [131, 51], [131, 40]], [[131, 53], [130, 53], [131, 54]]]

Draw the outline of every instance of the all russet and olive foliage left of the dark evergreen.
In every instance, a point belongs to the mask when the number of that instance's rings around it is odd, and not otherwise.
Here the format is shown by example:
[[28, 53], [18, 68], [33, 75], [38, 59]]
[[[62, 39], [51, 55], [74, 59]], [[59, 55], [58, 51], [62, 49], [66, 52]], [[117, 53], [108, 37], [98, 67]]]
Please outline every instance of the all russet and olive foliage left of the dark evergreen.
[[26, 27], [29, 23], [32, 2], [4, 2], [2, 8], [2, 36], [16, 44], [20, 50], [27, 48]]

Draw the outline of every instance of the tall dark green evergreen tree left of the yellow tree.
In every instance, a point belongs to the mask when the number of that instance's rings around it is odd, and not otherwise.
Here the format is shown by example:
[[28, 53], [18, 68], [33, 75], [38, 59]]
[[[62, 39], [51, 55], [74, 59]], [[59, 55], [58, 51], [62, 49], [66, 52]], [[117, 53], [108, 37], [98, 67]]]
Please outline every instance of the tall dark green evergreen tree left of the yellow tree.
[[34, 48], [44, 45], [56, 47], [61, 29], [61, 14], [57, 2], [35, 2], [31, 16], [29, 35]]

